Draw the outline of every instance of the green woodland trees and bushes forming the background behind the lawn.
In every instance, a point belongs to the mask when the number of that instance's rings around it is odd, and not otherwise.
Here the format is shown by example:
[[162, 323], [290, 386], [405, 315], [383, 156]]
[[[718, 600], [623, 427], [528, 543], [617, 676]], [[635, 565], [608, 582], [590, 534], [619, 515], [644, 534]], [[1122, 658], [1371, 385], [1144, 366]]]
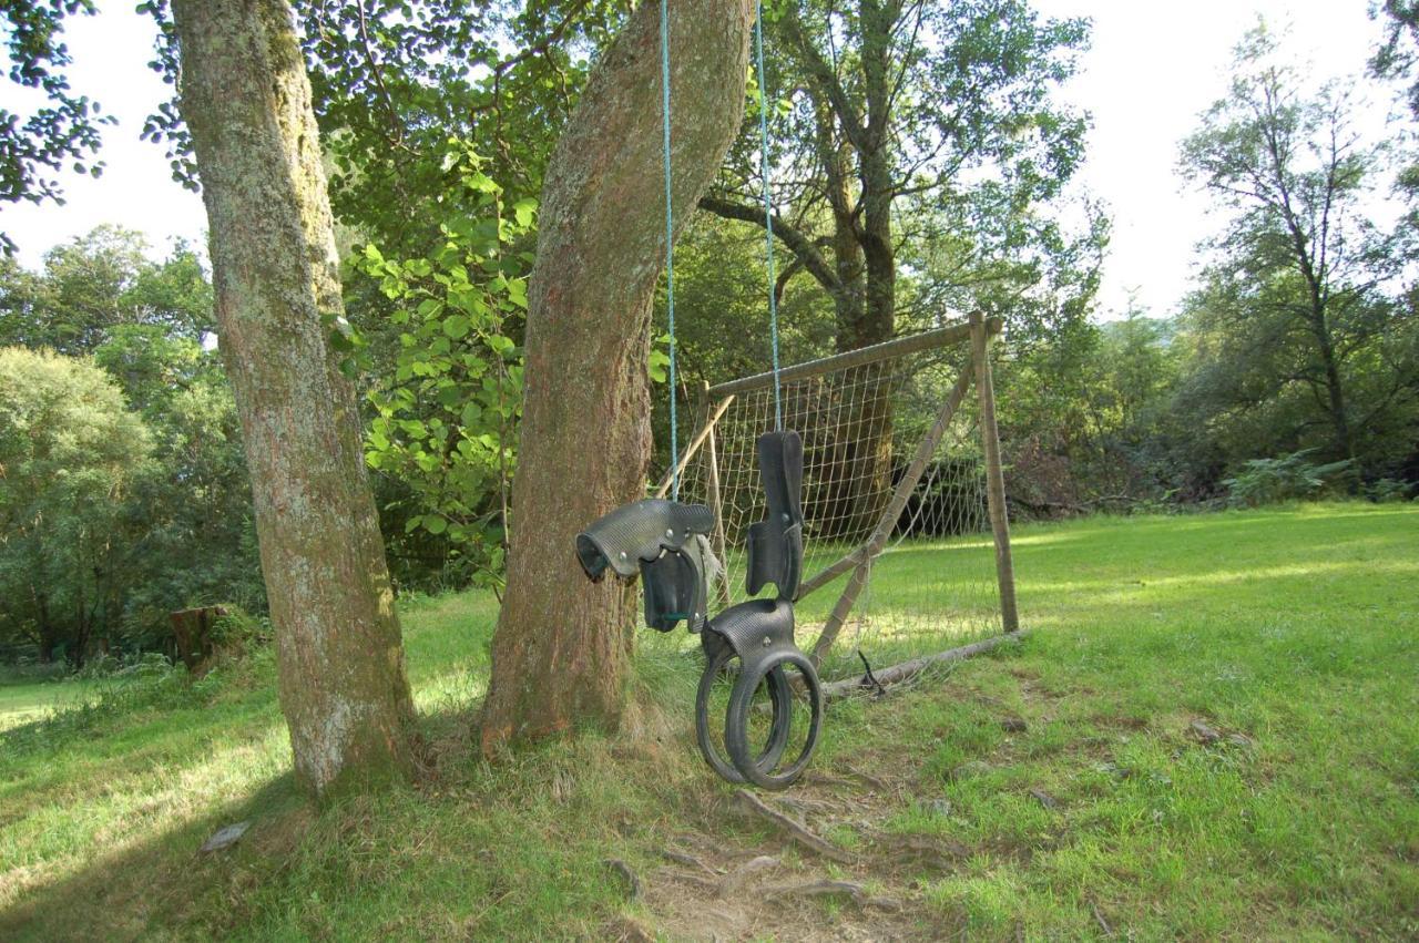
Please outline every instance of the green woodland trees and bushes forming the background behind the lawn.
[[[143, 7], [166, 23], [162, 3]], [[348, 319], [328, 328], [363, 393], [392, 573], [404, 593], [499, 590], [536, 199], [627, 4], [297, 7], [346, 260]], [[13, 78], [50, 106], [0, 125], [0, 200], [53, 201], [60, 167], [101, 172], [104, 113], [64, 84], [62, 21], [85, 11], [7, 11]], [[687, 414], [701, 383], [768, 362], [763, 106], [785, 359], [1000, 316], [1016, 518], [1415, 495], [1415, 4], [1376, 10], [1388, 41], [1357, 64], [1368, 88], [1305, 74], [1264, 24], [1239, 37], [1227, 95], [1178, 157], [1218, 228], [1169, 318], [1100, 309], [1110, 216], [1073, 186], [1088, 115], [1061, 91], [1090, 23], [1025, 0], [880, 13], [769, 4], [769, 94], [751, 81], [739, 140], [677, 245]], [[890, 75], [871, 68], [883, 48]], [[167, 44], [155, 67], [175, 74]], [[834, 94], [813, 81], [824, 69]], [[1393, 91], [1402, 119], [1376, 136], [1362, 95]], [[172, 108], [148, 136], [190, 183]], [[108, 225], [37, 268], [0, 261], [6, 661], [78, 668], [170, 648], [175, 610], [265, 610], [204, 252], [150, 252]], [[661, 467], [664, 360], [661, 337]]]

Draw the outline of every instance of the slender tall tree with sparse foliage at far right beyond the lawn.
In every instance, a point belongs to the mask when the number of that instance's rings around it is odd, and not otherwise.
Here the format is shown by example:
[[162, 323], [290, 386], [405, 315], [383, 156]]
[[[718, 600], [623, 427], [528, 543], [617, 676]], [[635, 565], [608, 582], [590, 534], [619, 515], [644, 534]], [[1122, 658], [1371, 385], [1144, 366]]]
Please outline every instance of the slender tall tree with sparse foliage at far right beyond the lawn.
[[1233, 213], [1196, 301], [1244, 325], [1249, 336], [1233, 337], [1229, 355], [1271, 362], [1263, 373], [1273, 389], [1310, 390], [1332, 457], [1355, 459], [1364, 417], [1349, 400], [1347, 362], [1385, 328], [1378, 294], [1395, 260], [1358, 206], [1378, 153], [1349, 121], [1348, 91], [1301, 89], [1259, 24], [1237, 45], [1227, 96], [1183, 142], [1182, 173]]

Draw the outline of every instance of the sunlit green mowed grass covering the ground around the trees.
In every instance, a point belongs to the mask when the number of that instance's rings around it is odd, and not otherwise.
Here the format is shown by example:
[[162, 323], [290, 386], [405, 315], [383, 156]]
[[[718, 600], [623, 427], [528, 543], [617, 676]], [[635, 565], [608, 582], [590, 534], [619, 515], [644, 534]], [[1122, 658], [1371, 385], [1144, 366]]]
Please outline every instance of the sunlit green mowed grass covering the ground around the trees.
[[[874, 601], [948, 554], [904, 557], [921, 569]], [[912, 933], [1419, 936], [1419, 508], [1019, 528], [1016, 569], [1020, 645], [827, 716], [819, 769], [902, 784], [876, 827], [959, 849], [908, 875]], [[705, 811], [731, 788], [694, 753], [697, 665], [664, 638], [620, 735], [482, 761], [494, 618], [474, 594], [406, 607], [429, 770], [333, 808], [291, 783], [268, 657], [190, 703], [4, 740], [0, 937], [614, 939], [657, 913], [607, 859], [653, 875], [685, 831], [763, 839]], [[238, 820], [240, 844], [196, 854]], [[853, 919], [871, 934], [851, 906], [812, 929]]]

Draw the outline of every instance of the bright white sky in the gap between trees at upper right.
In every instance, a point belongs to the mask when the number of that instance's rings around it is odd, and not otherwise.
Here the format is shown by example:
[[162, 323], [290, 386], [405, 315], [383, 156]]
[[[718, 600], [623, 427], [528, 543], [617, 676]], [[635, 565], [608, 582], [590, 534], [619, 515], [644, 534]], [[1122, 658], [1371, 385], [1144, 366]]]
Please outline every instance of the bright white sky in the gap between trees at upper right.
[[[1263, 16], [1286, 30], [1283, 48], [1311, 75], [1361, 75], [1382, 26], [1369, 0], [1032, 0], [1053, 17], [1091, 17], [1093, 48], [1064, 96], [1088, 109], [1094, 129], [1083, 183], [1114, 220], [1100, 315], [1118, 316], [1130, 294], [1165, 316], [1189, 288], [1196, 244], [1222, 220], [1176, 174], [1178, 145], [1227, 89], [1232, 48]], [[1384, 125], [1389, 102], [1375, 91], [1364, 128]]]

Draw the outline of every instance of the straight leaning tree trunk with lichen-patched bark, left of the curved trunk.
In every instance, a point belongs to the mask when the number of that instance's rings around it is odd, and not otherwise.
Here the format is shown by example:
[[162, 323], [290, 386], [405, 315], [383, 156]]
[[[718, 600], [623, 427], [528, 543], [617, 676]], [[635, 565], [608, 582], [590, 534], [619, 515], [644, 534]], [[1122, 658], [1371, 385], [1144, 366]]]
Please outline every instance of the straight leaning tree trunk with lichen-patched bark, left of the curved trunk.
[[413, 703], [350, 383], [338, 255], [287, 0], [175, 0], [281, 708], [316, 796], [412, 770]]

